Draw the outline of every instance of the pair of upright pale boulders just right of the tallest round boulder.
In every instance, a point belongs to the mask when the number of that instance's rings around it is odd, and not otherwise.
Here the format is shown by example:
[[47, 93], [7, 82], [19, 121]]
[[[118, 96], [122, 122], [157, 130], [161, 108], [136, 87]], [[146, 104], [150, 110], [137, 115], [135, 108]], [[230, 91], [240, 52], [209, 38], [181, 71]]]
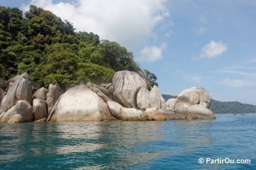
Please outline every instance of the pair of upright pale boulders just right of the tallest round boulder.
[[156, 109], [165, 109], [165, 99], [162, 98], [162, 94], [157, 86], [149, 91], [148, 89], [141, 87], [137, 95], [137, 107], [140, 110], [146, 110], [150, 107], [156, 107]]

